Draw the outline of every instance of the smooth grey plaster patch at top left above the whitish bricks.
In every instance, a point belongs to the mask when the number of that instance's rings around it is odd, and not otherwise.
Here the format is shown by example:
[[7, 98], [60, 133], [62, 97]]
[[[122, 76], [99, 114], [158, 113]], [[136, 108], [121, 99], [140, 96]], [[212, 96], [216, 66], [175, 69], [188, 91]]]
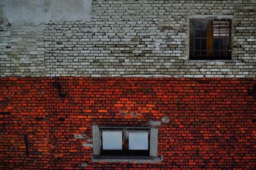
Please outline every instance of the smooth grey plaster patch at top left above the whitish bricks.
[[9, 23], [90, 20], [92, 0], [1, 0], [0, 18]]

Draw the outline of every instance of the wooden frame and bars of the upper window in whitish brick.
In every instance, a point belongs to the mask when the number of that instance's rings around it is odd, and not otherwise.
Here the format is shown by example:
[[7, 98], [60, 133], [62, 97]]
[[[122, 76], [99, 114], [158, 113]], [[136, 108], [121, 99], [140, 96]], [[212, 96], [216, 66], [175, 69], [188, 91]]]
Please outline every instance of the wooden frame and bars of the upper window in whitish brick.
[[[200, 36], [193, 36], [191, 32], [195, 32], [196, 29], [191, 27], [191, 22], [203, 21], [206, 22], [206, 55], [202, 55], [202, 28], [200, 28]], [[214, 22], [219, 22], [219, 29], [214, 29]], [[221, 22], [225, 21], [226, 28], [221, 29]], [[228, 25], [228, 26], [227, 26]], [[219, 36], [214, 36], [214, 31], [219, 32]], [[226, 31], [226, 36], [221, 36], [221, 31]], [[200, 49], [196, 50], [194, 47], [195, 39], [200, 39]], [[214, 49], [214, 39], [219, 39], [218, 50]], [[226, 49], [221, 49], [221, 39], [225, 39]], [[200, 55], [195, 55], [195, 52], [200, 52]], [[218, 52], [219, 55], [214, 55], [214, 52]], [[225, 52], [225, 56], [221, 56], [221, 52]], [[190, 60], [231, 60], [232, 59], [232, 19], [231, 18], [190, 18], [189, 19], [189, 59]]]

